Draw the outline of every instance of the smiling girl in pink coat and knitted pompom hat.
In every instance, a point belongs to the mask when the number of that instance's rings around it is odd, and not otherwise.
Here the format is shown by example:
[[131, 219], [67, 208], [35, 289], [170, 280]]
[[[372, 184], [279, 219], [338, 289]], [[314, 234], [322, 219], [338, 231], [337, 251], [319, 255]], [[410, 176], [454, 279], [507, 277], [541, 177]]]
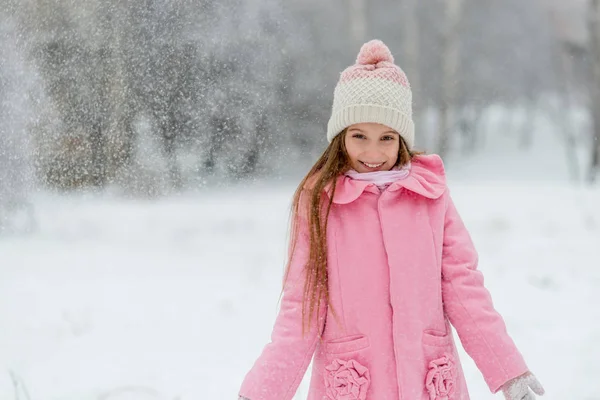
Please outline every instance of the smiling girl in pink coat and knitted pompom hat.
[[412, 150], [411, 103], [389, 49], [365, 43], [295, 193], [281, 308], [240, 399], [292, 399], [311, 359], [309, 400], [469, 399], [450, 324], [492, 393], [544, 393], [484, 287], [441, 159]]

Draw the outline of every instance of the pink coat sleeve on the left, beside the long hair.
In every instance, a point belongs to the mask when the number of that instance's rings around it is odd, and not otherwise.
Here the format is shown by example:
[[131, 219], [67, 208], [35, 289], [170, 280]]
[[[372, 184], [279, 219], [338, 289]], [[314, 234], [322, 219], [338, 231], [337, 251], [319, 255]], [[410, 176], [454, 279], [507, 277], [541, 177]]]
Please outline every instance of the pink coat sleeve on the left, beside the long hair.
[[271, 341], [247, 373], [239, 395], [251, 400], [291, 400], [315, 352], [324, 326], [327, 306], [321, 301], [318, 318], [302, 336], [302, 299], [305, 265], [309, 256], [308, 227], [299, 218], [296, 248], [283, 288], [281, 306], [271, 333]]

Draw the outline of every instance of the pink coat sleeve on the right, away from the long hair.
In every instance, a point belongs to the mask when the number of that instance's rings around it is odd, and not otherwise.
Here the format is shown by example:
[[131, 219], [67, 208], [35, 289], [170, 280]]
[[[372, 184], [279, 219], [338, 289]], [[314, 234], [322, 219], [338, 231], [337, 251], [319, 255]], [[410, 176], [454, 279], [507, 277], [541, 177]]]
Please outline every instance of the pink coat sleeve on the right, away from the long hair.
[[492, 393], [527, 371], [506, 325], [494, 309], [471, 237], [448, 192], [442, 249], [442, 300], [465, 351]]

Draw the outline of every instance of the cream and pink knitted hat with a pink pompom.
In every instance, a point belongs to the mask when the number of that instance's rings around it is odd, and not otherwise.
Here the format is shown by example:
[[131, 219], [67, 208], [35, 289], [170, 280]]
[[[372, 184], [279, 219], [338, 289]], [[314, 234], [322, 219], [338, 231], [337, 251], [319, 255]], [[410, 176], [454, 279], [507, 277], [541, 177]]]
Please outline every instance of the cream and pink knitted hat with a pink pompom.
[[409, 149], [414, 146], [410, 84], [381, 40], [363, 44], [356, 64], [340, 74], [327, 123], [327, 140], [331, 142], [342, 130], [360, 122], [389, 126], [402, 136]]

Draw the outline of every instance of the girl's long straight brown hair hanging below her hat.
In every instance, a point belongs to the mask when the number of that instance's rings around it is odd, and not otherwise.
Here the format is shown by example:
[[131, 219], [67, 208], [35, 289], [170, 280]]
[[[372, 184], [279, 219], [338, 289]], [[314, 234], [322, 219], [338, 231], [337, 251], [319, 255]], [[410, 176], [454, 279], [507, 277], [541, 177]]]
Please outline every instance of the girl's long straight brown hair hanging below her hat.
[[[290, 219], [292, 235], [285, 280], [288, 277], [291, 260], [298, 238], [298, 226], [301, 215], [307, 216], [309, 233], [309, 257], [305, 265], [306, 279], [302, 300], [302, 335], [305, 333], [305, 322], [308, 320], [310, 329], [311, 316], [319, 310], [322, 302], [329, 304], [327, 286], [327, 223], [333, 196], [335, 194], [337, 177], [350, 169], [350, 158], [345, 146], [347, 128], [333, 138], [321, 157], [302, 179], [294, 193]], [[408, 149], [404, 139], [400, 137], [397, 166], [407, 164], [414, 156], [422, 154]], [[307, 187], [307, 183], [310, 185]], [[325, 187], [331, 183], [329, 196], [323, 196]], [[327, 197], [329, 200], [327, 201]], [[306, 207], [304, 210], [301, 207]], [[331, 307], [333, 315], [335, 310]]]

